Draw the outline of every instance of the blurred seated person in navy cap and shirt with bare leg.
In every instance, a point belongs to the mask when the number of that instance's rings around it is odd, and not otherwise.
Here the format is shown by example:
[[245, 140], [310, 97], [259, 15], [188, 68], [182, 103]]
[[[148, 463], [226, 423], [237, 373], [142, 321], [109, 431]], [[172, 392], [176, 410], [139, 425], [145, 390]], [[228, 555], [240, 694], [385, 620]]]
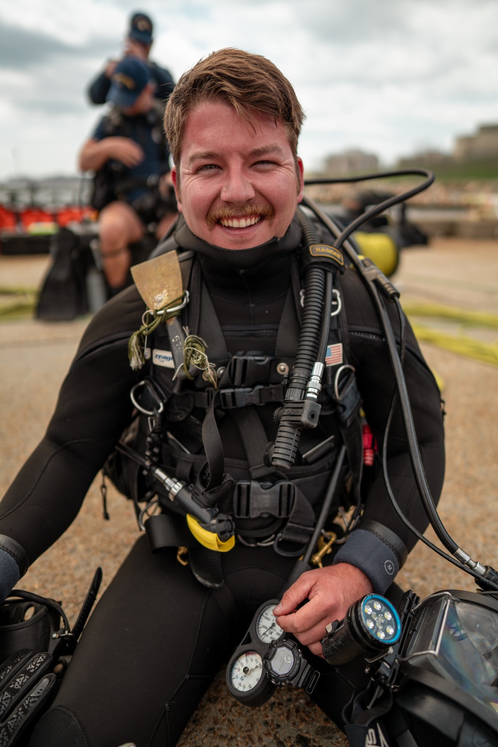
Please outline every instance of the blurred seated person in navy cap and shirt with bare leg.
[[96, 172], [91, 202], [100, 211], [100, 252], [111, 297], [130, 282], [132, 261], [143, 259], [132, 257], [130, 244], [146, 230], [161, 238], [176, 217], [163, 106], [154, 92], [145, 62], [119, 62], [107, 96], [113, 108], [79, 156], [82, 170]]

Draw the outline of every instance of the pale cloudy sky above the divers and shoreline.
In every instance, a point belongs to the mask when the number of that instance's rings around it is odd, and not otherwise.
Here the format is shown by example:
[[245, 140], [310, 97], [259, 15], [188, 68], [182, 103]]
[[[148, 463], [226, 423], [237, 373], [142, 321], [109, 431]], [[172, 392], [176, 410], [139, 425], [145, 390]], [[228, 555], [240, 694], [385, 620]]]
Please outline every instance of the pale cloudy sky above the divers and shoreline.
[[85, 88], [133, 10], [174, 78], [223, 46], [271, 58], [307, 113], [308, 167], [349, 147], [389, 164], [498, 122], [497, 0], [0, 0], [0, 179], [75, 173], [99, 118]]

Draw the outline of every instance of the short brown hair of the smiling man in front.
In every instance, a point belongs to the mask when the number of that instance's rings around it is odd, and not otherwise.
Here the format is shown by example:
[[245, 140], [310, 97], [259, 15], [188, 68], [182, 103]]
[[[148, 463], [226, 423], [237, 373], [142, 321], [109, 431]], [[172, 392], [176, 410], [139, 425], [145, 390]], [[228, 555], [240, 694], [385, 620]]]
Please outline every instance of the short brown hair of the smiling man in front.
[[166, 137], [177, 166], [187, 116], [205, 101], [233, 106], [252, 128], [255, 128], [254, 112], [275, 122], [281, 120], [296, 159], [305, 114], [290, 82], [266, 57], [227, 47], [212, 52], [181, 75], [164, 114]]

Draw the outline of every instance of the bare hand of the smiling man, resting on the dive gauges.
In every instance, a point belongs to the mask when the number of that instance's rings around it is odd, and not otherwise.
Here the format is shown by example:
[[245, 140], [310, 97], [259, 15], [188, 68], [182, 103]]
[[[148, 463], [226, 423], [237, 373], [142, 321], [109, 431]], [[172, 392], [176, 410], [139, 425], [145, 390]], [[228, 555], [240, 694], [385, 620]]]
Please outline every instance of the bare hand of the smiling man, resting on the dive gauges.
[[[312, 654], [323, 657], [320, 640], [326, 625], [342, 620], [353, 602], [373, 592], [370, 580], [354, 565], [341, 562], [306, 571], [287, 589], [273, 614], [282, 630], [293, 633]], [[308, 603], [296, 610], [298, 604]]]

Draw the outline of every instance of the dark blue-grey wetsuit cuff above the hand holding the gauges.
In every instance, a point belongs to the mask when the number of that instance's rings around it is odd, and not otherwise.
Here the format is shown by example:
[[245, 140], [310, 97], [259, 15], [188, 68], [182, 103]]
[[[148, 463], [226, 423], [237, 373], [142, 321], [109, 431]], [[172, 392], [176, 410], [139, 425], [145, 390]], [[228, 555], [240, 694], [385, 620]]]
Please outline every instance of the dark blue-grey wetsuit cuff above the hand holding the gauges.
[[355, 565], [370, 579], [373, 591], [384, 594], [406, 560], [404, 543], [396, 534], [376, 521], [365, 521], [361, 529], [349, 535], [334, 557], [334, 565]]

